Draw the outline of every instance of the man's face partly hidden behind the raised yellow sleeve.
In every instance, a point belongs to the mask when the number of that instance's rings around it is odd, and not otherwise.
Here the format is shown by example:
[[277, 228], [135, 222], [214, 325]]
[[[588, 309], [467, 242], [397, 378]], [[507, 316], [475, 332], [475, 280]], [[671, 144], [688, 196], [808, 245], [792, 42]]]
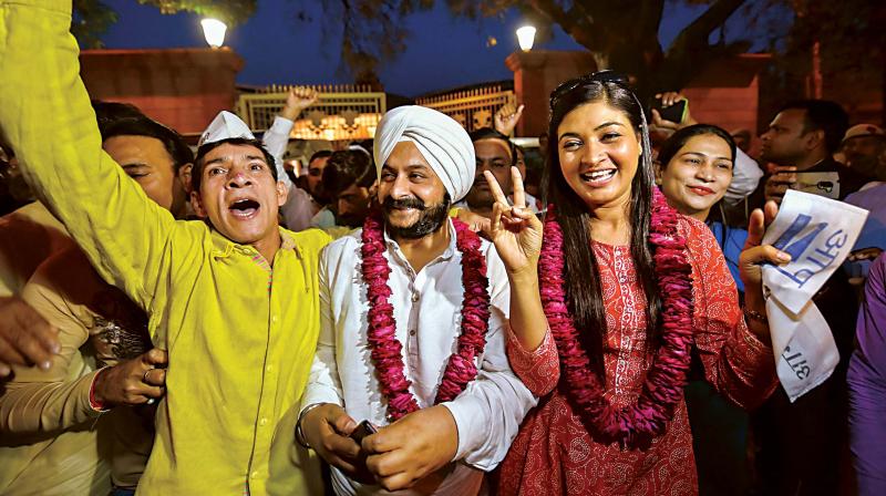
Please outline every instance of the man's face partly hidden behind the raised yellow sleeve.
[[184, 216], [186, 182], [176, 174], [175, 162], [163, 142], [150, 136], [122, 135], [105, 140], [102, 147], [148, 198], [176, 217]]

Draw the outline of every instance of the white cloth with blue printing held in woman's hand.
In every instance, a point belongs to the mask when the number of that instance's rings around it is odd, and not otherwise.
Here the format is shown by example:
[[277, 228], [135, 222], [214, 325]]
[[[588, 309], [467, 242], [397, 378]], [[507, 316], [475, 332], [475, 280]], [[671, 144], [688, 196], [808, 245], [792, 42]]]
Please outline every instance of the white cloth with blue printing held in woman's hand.
[[785, 266], [763, 266], [763, 288], [779, 380], [792, 402], [831, 376], [839, 361], [812, 297], [849, 255], [865, 218], [862, 208], [789, 189], [763, 237], [764, 245], [791, 255]]

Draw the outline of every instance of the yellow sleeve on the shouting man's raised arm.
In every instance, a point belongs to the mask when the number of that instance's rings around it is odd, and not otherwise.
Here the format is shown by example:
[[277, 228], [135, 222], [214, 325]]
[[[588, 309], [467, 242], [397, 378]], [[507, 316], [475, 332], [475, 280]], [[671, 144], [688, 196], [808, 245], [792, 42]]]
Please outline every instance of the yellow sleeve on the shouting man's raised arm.
[[70, 0], [0, 0], [0, 126], [102, 278], [150, 310], [166, 294], [168, 245], [193, 230], [176, 229], [102, 151], [70, 24]]

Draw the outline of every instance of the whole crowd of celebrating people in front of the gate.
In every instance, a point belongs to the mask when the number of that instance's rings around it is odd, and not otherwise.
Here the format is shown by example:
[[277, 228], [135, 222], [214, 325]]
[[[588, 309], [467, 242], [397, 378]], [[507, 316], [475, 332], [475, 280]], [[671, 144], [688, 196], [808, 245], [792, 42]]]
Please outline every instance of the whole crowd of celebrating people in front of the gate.
[[[794, 101], [752, 157], [600, 71], [540, 167], [523, 106], [408, 105], [293, 172], [315, 91], [193, 149], [90, 101], [70, 24], [0, 1], [0, 494], [886, 494], [882, 127]], [[869, 210], [796, 401], [762, 283], [789, 189]]]

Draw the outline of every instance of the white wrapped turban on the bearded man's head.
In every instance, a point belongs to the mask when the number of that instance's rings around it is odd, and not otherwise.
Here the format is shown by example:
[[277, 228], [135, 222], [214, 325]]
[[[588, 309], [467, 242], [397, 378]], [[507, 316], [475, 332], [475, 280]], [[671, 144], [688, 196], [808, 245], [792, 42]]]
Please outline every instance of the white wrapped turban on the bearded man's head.
[[375, 169], [381, 168], [400, 142], [412, 142], [436, 173], [452, 202], [467, 195], [474, 183], [476, 158], [467, 132], [452, 117], [419, 106], [399, 106], [382, 117], [375, 130]]

